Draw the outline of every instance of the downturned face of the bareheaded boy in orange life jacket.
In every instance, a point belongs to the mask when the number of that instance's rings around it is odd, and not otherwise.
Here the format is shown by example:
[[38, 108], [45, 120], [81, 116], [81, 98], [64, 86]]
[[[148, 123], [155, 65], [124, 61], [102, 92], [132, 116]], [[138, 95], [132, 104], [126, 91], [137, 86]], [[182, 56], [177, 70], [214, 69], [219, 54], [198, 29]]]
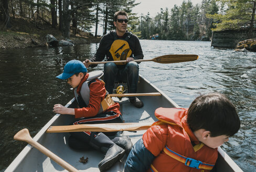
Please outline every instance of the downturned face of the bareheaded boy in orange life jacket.
[[216, 137], [211, 137], [210, 135], [208, 135], [208, 136], [206, 136], [205, 139], [203, 139], [202, 143], [204, 143], [208, 147], [217, 148], [217, 147], [221, 146], [223, 143], [227, 142], [228, 137], [229, 136], [227, 136], [227, 135], [220, 135], [220, 136], [216, 136]]

